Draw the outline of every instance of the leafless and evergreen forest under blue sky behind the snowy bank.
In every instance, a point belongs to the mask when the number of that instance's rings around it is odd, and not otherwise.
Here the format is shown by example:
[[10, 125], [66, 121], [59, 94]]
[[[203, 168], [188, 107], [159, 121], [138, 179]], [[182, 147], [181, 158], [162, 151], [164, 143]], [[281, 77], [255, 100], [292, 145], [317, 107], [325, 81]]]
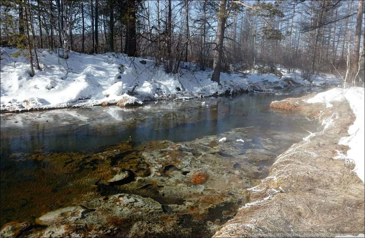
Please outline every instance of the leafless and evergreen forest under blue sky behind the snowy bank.
[[1, 46], [37, 51], [151, 57], [166, 73], [183, 62], [200, 70], [276, 73], [304, 79], [335, 73], [364, 82], [363, 1], [1, 1]]

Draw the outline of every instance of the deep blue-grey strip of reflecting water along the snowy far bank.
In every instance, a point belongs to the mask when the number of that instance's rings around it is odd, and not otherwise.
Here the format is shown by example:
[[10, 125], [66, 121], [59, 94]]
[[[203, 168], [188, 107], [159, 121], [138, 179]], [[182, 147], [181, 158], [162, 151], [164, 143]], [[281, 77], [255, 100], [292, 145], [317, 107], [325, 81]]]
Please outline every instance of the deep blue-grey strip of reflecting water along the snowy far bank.
[[[311, 123], [301, 116], [283, 115], [268, 108], [271, 101], [285, 97], [288, 96], [246, 94], [151, 102], [132, 110], [111, 106], [1, 116], [1, 158], [4, 154], [34, 153], [39, 149], [94, 151], [128, 138], [136, 143], [159, 139], [190, 141], [237, 127], [308, 130]], [[203, 101], [205, 105], [201, 105]]]

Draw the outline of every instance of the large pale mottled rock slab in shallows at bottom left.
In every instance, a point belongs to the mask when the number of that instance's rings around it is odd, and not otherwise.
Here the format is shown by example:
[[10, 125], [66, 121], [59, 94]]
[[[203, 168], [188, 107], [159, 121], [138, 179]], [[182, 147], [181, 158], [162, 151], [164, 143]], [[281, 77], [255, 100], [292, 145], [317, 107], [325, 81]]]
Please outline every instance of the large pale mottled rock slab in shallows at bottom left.
[[[47, 212], [37, 219], [38, 224], [46, 225], [47, 228], [27, 236], [101, 236], [103, 233], [116, 231], [115, 227], [131, 226], [139, 220], [153, 220], [156, 216], [163, 214], [161, 204], [153, 199], [138, 195], [116, 194], [108, 197], [108, 200], [94, 199], [81, 206]], [[144, 234], [144, 231], [140, 232]], [[136, 231], [133, 234], [139, 236]]]

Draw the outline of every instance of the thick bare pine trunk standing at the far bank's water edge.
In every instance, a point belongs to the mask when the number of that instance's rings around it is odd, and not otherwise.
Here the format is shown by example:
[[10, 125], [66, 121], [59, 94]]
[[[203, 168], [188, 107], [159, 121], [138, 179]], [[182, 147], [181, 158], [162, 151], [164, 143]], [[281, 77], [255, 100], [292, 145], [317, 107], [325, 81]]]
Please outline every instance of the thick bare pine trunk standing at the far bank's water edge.
[[226, 0], [219, 1], [218, 29], [216, 35], [216, 48], [214, 51], [212, 81], [219, 82], [220, 66], [222, 64], [224, 28], [226, 26]]

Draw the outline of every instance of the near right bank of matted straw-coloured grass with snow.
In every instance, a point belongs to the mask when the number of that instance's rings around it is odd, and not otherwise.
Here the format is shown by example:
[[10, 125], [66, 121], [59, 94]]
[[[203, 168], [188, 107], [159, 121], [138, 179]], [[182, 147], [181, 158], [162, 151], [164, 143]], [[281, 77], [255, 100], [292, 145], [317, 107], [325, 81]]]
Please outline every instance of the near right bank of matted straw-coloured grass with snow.
[[214, 237], [364, 233], [364, 88], [335, 88], [270, 107], [317, 120], [323, 130], [280, 154]]

